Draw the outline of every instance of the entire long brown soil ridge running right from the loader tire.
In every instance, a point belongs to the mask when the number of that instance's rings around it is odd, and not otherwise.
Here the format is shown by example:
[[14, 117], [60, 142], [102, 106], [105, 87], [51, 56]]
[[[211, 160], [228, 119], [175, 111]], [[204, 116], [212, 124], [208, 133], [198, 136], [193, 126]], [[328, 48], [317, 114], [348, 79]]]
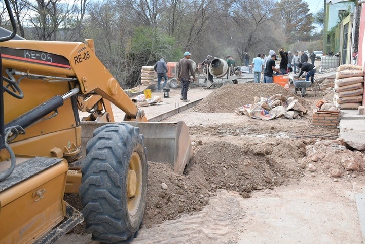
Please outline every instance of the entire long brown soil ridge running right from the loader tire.
[[[283, 152], [283, 147], [288, 150]], [[212, 142], [197, 147], [184, 175], [176, 175], [168, 164], [149, 162], [143, 223], [149, 228], [184, 213], [200, 211], [209, 197], [221, 189], [249, 197], [253, 190], [273, 189], [299, 179], [303, 177], [299, 160], [305, 155], [305, 148], [306, 144], [299, 140], [252, 142], [244, 147]]]

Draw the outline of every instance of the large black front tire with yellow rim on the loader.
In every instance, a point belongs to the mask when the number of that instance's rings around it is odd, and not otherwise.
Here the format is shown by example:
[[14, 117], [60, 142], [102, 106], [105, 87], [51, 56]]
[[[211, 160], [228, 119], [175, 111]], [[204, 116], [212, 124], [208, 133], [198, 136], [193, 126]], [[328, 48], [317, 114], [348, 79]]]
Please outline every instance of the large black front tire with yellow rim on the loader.
[[79, 188], [92, 239], [129, 243], [142, 223], [146, 206], [148, 166], [139, 128], [104, 125], [86, 145]]

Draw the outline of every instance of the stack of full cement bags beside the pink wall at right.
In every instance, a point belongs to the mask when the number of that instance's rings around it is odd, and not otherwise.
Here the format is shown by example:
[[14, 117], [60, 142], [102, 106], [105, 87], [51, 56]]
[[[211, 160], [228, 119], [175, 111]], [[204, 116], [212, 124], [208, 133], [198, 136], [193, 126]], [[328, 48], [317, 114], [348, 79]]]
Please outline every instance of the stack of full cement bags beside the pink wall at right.
[[361, 66], [344, 64], [336, 72], [334, 103], [338, 109], [358, 109], [363, 99], [364, 72]]

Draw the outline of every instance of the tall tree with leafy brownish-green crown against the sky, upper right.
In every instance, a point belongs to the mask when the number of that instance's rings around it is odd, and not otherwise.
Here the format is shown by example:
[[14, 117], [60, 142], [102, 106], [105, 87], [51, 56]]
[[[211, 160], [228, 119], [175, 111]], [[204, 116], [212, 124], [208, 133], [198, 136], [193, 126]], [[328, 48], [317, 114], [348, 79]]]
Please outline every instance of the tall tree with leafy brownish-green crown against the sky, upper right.
[[281, 18], [282, 29], [288, 43], [293, 43], [298, 38], [302, 41], [310, 39], [314, 29], [313, 16], [309, 13], [308, 4], [304, 0], [281, 0], [277, 3], [275, 11], [276, 17]]

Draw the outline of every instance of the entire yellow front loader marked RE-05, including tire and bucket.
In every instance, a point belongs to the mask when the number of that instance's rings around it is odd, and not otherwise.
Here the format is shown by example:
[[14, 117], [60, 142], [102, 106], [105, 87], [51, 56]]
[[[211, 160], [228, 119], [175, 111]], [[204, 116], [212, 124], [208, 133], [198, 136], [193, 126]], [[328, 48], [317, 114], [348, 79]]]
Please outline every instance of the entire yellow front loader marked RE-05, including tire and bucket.
[[[182, 173], [192, 153], [187, 126], [148, 122], [92, 40], [2, 36], [0, 243], [53, 243], [82, 221], [94, 240], [129, 243], [143, 219], [147, 161]], [[114, 122], [111, 103], [124, 121]], [[81, 213], [64, 193], [80, 194]]]

